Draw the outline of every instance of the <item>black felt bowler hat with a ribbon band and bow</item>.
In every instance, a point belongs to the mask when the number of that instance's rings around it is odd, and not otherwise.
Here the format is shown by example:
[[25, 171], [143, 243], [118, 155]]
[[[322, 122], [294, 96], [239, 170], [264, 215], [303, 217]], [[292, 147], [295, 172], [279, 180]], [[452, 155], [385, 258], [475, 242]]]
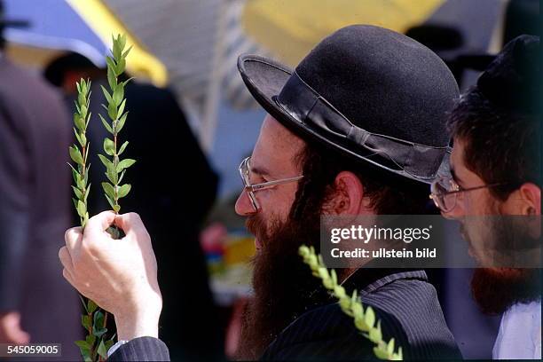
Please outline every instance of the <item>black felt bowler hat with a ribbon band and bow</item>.
[[416, 181], [436, 177], [459, 92], [421, 43], [353, 25], [327, 36], [295, 71], [256, 55], [241, 55], [238, 68], [260, 105], [301, 138]]

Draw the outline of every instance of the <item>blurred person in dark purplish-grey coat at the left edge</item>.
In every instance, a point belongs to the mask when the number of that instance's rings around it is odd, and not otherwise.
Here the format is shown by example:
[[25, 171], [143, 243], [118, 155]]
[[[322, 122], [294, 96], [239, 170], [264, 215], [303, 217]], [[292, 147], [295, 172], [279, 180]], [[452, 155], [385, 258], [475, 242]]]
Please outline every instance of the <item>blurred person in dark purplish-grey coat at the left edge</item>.
[[70, 220], [70, 119], [60, 95], [4, 53], [0, 1], [0, 343], [62, 343], [79, 357], [80, 302], [59, 278]]

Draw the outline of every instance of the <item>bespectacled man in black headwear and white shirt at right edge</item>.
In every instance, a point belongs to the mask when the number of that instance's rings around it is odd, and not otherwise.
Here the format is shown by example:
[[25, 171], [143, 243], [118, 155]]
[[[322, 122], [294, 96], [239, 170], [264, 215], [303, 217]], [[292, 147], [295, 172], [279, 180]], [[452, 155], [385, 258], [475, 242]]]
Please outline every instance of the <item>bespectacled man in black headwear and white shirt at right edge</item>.
[[[541, 95], [539, 37], [519, 36], [454, 108], [452, 176], [432, 186], [442, 214], [460, 221], [472, 256], [484, 266], [471, 279], [476, 303], [484, 313], [503, 313], [493, 358], [541, 358], [540, 269], [488, 262], [489, 246], [514, 257], [518, 242], [527, 240], [522, 246], [535, 247], [531, 254], [541, 263]], [[489, 224], [477, 216], [490, 216]], [[535, 227], [526, 224], [528, 216], [535, 216]]]

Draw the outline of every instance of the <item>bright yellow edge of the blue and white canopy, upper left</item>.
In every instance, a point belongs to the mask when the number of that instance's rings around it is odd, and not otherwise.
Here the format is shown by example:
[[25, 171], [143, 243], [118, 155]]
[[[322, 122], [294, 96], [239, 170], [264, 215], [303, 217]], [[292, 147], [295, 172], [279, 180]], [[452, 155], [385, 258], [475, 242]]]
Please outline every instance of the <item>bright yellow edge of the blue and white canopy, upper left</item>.
[[112, 35], [126, 34], [128, 45], [132, 45], [126, 67], [131, 75], [151, 80], [155, 85], [163, 87], [168, 83], [168, 70], [161, 61], [146, 51], [144, 46], [130, 34], [114, 13], [100, 0], [67, 0], [83, 20], [110, 47]]

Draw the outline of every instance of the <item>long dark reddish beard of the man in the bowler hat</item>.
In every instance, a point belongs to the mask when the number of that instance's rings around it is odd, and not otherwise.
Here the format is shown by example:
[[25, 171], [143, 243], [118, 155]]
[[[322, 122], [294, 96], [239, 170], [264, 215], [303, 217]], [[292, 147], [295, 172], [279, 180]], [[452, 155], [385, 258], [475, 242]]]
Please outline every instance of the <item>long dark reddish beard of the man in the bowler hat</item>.
[[296, 221], [276, 220], [268, 228], [260, 215], [248, 218], [248, 231], [261, 248], [252, 261], [255, 295], [242, 321], [238, 358], [260, 358], [284, 328], [327, 299], [326, 289], [298, 256], [303, 244], [319, 250], [319, 217], [314, 213]]

